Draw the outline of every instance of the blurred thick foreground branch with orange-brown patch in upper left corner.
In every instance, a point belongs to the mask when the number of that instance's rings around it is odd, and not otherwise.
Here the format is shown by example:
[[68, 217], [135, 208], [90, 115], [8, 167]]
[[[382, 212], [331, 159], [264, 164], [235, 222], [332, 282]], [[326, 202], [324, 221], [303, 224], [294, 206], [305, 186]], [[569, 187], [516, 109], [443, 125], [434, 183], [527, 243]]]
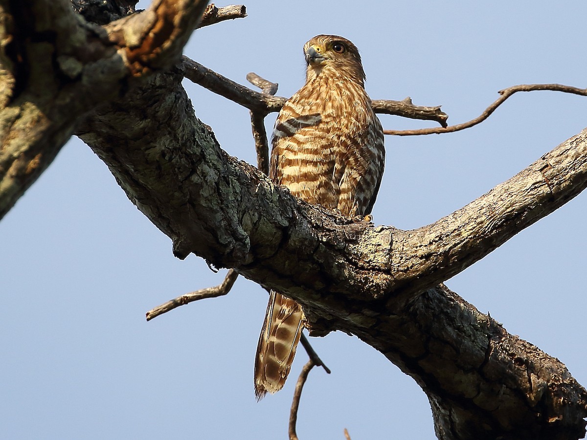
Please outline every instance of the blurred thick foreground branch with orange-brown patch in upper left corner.
[[206, 4], [156, 0], [105, 28], [80, 21], [65, 0], [0, 4], [0, 219], [80, 115], [176, 62]]

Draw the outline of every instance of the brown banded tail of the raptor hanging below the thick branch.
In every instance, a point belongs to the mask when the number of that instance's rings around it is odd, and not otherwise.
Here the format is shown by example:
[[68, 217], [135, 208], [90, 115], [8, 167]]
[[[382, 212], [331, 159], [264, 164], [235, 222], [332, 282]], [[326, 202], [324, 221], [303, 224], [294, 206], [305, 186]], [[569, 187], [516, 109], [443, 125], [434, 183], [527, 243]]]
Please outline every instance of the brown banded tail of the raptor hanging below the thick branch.
[[302, 333], [302, 307], [271, 291], [255, 359], [255, 395], [281, 390], [288, 377]]

